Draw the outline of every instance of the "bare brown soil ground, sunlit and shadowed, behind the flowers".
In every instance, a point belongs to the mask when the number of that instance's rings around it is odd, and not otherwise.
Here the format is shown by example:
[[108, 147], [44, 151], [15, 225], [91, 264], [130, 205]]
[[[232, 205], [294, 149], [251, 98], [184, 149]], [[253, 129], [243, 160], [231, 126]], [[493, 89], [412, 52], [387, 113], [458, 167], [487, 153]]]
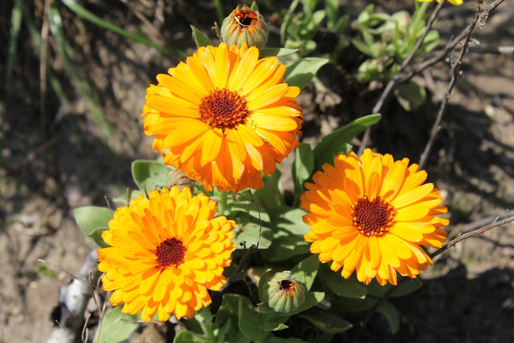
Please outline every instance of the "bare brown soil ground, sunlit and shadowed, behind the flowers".
[[[12, 91], [6, 96], [12, 3], [8, 0], [0, 5], [0, 342], [44, 342], [54, 325], [50, 314], [57, 305], [59, 287], [78, 273], [88, 252], [95, 248], [78, 229], [73, 210], [84, 205], [105, 206], [104, 197], [112, 199], [124, 194], [127, 186], [135, 187], [131, 162], [157, 156], [151, 151], [151, 137], [142, 133], [139, 119], [145, 88], [179, 58], [166, 57], [78, 19], [58, 4], [67, 40], [85, 70], [93, 96], [117, 130], [107, 143], [87, 103], [66, 75], [62, 60], [53, 52], [51, 39], [47, 67], [64, 85], [69, 104], [61, 105], [48, 85], [46, 94], [44, 90], [42, 93], [40, 58], [25, 25], [13, 82], [8, 85]], [[26, 3], [40, 29], [44, 3]], [[195, 50], [190, 24], [215, 39], [210, 31], [216, 20], [212, 2], [81, 3], [103, 19], [132, 32], [140, 28], [172, 49]], [[224, 3], [226, 13], [238, 4]], [[273, 5], [286, 8], [288, 3]], [[342, 3], [352, 20], [366, 5], [360, 1]], [[400, 8], [412, 10], [412, 3], [407, 1], [377, 3], [388, 13]], [[442, 42], [471, 22], [475, 5], [476, 1], [465, 0], [460, 7], [445, 6], [436, 26]], [[264, 5], [261, 10], [270, 21], [268, 46], [279, 46], [276, 16]], [[149, 22], [142, 22], [138, 15]], [[473, 37], [481, 47], [512, 46], [513, 20], [514, 0], [506, 0]], [[330, 39], [323, 32], [316, 38], [320, 44], [330, 44]], [[380, 85], [373, 89], [356, 83], [362, 58], [348, 48], [338, 64], [320, 71], [320, 78], [329, 87], [327, 93], [317, 93], [311, 86], [302, 91], [298, 101], [304, 109], [304, 141], [314, 143], [348, 121], [371, 113]], [[470, 52], [462, 70], [463, 78], [454, 89], [426, 166], [430, 181], [441, 190], [449, 207], [449, 237], [488, 224], [497, 216], [504, 218], [514, 208], [513, 57]], [[395, 158], [418, 161], [446, 92], [448, 76], [446, 61], [420, 77], [429, 97], [412, 113], [403, 111], [394, 99], [388, 101], [383, 119], [372, 131], [371, 147]], [[42, 94], [46, 101], [43, 108]], [[287, 170], [287, 166], [286, 162], [282, 169]], [[422, 274], [424, 286], [420, 290], [394, 300], [401, 316], [396, 335], [375, 316], [355, 341], [514, 341], [513, 256], [512, 223], [461, 242]], [[338, 339], [354, 333], [351, 330]]]

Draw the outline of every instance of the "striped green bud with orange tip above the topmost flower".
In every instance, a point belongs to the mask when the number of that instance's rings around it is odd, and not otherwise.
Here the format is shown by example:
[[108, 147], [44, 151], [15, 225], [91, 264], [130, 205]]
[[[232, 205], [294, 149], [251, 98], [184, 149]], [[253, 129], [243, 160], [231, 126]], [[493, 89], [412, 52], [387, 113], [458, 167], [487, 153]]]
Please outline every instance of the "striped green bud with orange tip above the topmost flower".
[[239, 5], [225, 18], [221, 29], [221, 38], [228, 45], [241, 47], [243, 42], [258, 49], [268, 41], [269, 28], [258, 10], [246, 5]]

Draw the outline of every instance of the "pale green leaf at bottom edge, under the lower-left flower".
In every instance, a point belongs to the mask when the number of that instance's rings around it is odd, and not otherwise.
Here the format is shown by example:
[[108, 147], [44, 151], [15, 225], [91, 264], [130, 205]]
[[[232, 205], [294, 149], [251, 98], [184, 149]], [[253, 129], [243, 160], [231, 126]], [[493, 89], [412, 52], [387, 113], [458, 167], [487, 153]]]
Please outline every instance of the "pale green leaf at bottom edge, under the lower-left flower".
[[[140, 315], [130, 315], [121, 313], [123, 306], [116, 306], [109, 311], [102, 319], [102, 326], [97, 332], [95, 342], [99, 343], [117, 343], [121, 342], [139, 326], [138, 321], [141, 320]], [[98, 340], [97, 340], [98, 339]]]

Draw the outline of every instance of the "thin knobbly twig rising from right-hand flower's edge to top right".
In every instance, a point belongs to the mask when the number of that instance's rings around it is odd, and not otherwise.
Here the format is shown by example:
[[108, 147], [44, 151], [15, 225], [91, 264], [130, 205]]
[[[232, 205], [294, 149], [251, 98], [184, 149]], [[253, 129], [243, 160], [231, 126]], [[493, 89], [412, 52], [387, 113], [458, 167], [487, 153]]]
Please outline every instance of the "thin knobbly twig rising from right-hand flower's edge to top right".
[[[485, 22], [480, 21], [480, 13], [482, 12], [482, 5], [484, 1], [480, 0], [479, 5], [476, 8], [476, 15], [475, 19], [471, 24], [469, 25], [469, 29], [466, 32], [466, 41], [462, 45], [462, 51], [461, 54], [458, 56], [458, 59], [456, 61], [452, 61], [451, 63], [451, 79], [448, 83], [448, 88], [446, 89], [446, 96], [444, 97], [443, 101], [441, 102], [441, 105], [439, 106], [439, 111], [437, 112], [437, 116], [435, 118], [434, 125], [432, 127], [432, 131], [430, 132], [430, 138], [428, 139], [427, 145], [425, 146], [425, 150], [421, 154], [421, 157], [419, 158], [419, 169], [423, 169], [425, 166], [425, 163], [427, 162], [428, 155], [430, 154], [430, 150], [432, 149], [432, 146], [435, 141], [435, 137], [437, 136], [437, 133], [440, 130], [440, 123], [443, 119], [443, 114], [446, 110], [446, 105], [448, 104], [448, 100], [450, 100], [451, 92], [453, 90], [453, 87], [455, 86], [455, 82], [460, 76], [460, 66], [462, 64], [462, 60], [464, 59], [464, 56], [466, 55], [466, 52], [468, 51], [468, 46], [471, 43], [471, 32], [475, 29], [476, 25], [482, 25]], [[479, 24], [480, 23], [480, 24]]]

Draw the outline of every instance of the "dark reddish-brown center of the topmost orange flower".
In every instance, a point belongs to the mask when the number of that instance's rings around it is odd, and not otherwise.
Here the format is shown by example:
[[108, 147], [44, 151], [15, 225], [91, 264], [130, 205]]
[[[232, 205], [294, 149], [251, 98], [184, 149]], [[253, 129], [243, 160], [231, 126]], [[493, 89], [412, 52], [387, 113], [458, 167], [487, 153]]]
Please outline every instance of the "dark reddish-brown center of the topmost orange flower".
[[243, 124], [249, 115], [246, 99], [226, 88], [216, 89], [201, 98], [198, 112], [201, 121], [223, 132]]

